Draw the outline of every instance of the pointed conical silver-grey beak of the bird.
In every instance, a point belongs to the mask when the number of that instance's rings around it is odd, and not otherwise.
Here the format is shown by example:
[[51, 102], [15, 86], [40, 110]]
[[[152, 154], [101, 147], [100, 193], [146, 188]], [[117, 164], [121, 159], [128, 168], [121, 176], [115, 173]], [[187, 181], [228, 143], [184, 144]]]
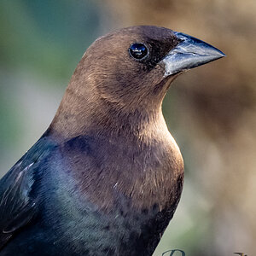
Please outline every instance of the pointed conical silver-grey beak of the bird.
[[174, 32], [174, 34], [181, 42], [160, 61], [160, 65], [164, 65], [166, 70], [165, 77], [225, 56], [222, 51], [200, 39], [181, 32]]

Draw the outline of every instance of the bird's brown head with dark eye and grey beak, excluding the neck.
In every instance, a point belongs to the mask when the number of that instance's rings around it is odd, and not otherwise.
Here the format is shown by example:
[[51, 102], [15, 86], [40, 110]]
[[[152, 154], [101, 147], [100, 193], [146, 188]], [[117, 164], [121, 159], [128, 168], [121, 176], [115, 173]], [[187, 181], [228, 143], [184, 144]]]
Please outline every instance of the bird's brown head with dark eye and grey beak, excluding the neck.
[[79, 109], [82, 105], [88, 111], [102, 108], [111, 115], [153, 113], [160, 109], [178, 73], [223, 56], [210, 44], [181, 32], [131, 26], [91, 44], [67, 88], [70, 96], [64, 100], [69, 107], [77, 101]]

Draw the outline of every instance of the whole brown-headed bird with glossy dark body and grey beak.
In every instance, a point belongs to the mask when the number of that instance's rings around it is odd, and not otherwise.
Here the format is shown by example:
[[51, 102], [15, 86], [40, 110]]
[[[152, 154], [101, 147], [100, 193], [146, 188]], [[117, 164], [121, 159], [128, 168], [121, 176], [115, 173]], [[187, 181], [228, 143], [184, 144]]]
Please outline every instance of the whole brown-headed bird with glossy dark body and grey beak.
[[96, 39], [49, 128], [0, 180], [0, 255], [154, 253], [184, 177], [162, 101], [179, 74], [222, 57], [159, 26]]

